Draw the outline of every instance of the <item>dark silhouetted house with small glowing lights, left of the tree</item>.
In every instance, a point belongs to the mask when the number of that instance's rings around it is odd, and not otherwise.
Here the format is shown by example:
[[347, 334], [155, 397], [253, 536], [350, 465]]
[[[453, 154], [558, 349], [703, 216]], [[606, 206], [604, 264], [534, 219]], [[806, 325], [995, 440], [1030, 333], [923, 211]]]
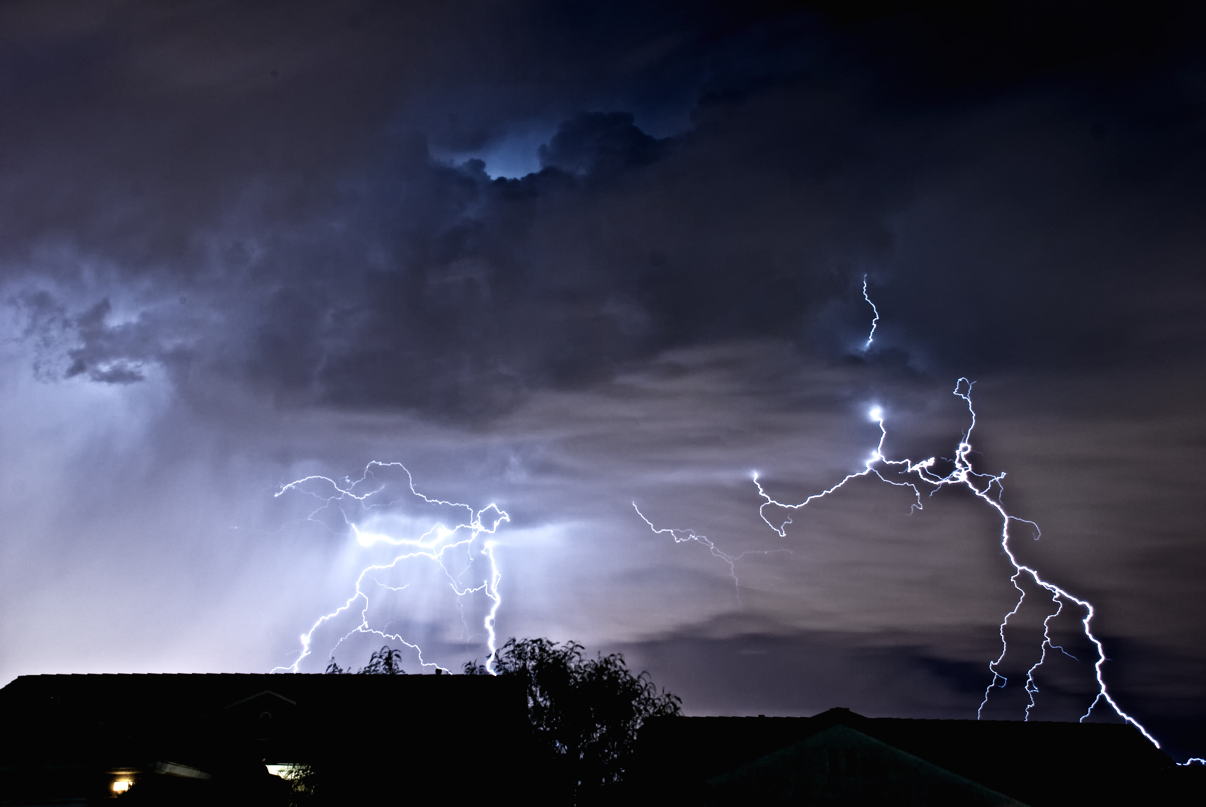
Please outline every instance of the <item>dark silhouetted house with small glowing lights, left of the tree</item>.
[[22, 676], [0, 727], [0, 805], [286, 805], [268, 765], [312, 766], [322, 803], [485, 794], [529, 738], [522, 685], [490, 676]]

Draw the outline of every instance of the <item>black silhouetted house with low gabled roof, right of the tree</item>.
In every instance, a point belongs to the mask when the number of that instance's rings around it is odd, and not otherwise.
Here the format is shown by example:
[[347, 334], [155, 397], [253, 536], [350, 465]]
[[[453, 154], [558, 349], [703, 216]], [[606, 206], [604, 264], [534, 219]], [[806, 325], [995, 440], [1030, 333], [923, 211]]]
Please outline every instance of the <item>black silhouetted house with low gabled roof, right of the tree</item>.
[[[1199, 766], [1200, 767], [1200, 766]], [[1123, 724], [865, 718], [657, 718], [632, 793], [649, 803], [1047, 807], [1173, 805], [1184, 779]], [[1184, 803], [1199, 803], [1196, 800]]]

